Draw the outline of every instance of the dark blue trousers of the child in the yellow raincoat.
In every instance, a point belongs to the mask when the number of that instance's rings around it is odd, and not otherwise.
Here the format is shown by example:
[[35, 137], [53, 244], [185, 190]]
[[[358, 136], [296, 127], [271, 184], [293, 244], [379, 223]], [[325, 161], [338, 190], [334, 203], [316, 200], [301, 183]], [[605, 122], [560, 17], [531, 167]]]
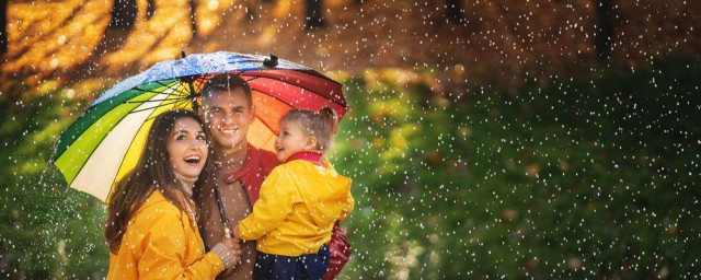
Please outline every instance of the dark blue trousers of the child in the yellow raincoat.
[[329, 269], [329, 247], [322, 245], [317, 254], [286, 257], [265, 253], [257, 253], [254, 280], [267, 279], [311, 279], [321, 280]]

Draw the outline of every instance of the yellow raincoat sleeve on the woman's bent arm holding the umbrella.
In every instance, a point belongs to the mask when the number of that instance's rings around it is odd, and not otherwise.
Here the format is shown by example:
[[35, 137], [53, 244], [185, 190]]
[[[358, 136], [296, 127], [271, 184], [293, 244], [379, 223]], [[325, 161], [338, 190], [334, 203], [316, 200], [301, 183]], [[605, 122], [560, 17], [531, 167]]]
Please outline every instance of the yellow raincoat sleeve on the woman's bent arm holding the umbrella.
[[184, 228], [187, 222], [172, 211], [163, 211], [153, 219], [151, 230], [141, 241], [139, 279], [215, 279], [223, 271], [221, 258], [212, 252], [192, 264], [182, 262], [182, 257], [188, 254], [184, 246], [191, 234]]

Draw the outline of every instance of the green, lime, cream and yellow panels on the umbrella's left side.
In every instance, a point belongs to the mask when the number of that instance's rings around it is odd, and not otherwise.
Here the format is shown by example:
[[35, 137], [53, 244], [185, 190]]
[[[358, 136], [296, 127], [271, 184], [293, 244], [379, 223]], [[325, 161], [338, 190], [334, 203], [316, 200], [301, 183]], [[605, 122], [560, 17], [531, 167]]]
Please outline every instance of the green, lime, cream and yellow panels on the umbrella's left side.
[[71, 188], [107, 201], [136, 166], [153, 118], [192, 108], [188, 89], [180, 80], [158, 81], [95, 104], [61, 135], [54, 164]]

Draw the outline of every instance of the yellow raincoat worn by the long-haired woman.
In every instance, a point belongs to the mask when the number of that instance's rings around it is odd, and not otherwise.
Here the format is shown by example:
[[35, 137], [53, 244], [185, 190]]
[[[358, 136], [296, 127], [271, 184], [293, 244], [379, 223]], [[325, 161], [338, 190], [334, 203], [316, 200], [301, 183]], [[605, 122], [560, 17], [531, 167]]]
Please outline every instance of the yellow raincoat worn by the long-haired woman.
[[221, 258], [205, 246], [194, 219], [158, 189], [127, 225], [107, 279], [215, 279]]

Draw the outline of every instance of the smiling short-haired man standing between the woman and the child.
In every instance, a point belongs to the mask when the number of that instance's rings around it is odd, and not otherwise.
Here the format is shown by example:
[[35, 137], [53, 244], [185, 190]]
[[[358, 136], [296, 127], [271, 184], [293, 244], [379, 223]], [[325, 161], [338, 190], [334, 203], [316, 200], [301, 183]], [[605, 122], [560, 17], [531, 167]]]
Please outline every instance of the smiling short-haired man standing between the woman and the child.
[[[203, 112], [211, 132], [217, 165], [217, 184], [229, 228], [235, 226], [252, 211], [265, 177], [279, 164], [275, 153], [257, 149], [246, 140], [249, 126], [255, 120], [251, 88], [237, 74], [219, 74], [203, 89]], [[203, 191], [203, 238], [209, 248], [221, 242], [223, 228], [216, 196]], [[327, 244], [331, 249], [329, 271], [333, 279], [348, 261], [350, 247], [345, 233], [336, 224]], [[255, 262], [255, 243], [244, 242], [240, 265], [222, 273], [222, 279], [251, 279]]]

